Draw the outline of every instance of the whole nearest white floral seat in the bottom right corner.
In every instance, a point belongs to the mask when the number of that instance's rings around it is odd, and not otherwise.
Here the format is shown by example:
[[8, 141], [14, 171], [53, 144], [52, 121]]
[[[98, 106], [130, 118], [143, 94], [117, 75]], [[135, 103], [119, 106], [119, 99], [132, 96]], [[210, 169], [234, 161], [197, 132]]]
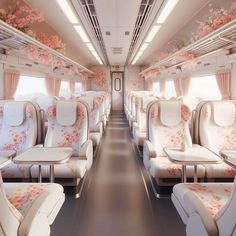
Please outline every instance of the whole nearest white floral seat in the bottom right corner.
[[236, 178], [234, 183], [177, 184], [172, 201], [187, 236], [236, 235]]

